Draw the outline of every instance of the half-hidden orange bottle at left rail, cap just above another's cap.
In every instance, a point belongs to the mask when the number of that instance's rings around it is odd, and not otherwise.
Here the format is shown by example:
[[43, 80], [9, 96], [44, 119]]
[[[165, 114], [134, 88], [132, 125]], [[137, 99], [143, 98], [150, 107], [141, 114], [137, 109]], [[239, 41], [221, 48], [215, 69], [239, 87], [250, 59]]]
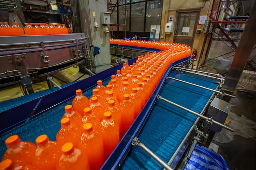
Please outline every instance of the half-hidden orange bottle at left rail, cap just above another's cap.
[[61, 119], [68, 117], [70, 118], [70, 122], [74, 124], [76, 127], [82, 126], [82, 116], [77, 111], [73, 110], [72, 105], [65, 106], [65, 113]]

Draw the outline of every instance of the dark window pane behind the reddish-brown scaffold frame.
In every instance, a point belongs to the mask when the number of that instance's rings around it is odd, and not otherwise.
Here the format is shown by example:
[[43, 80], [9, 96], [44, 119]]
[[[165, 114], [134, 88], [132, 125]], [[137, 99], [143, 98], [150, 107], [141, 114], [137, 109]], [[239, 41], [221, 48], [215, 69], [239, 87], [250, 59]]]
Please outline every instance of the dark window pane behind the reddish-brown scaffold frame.
[[[130, 31], [130, 5], [121, 5], [118, 7], [118, 20], [119, 20], [119, 24], [125, 24], [125, 18], [126, 18], [126, 31]], [[126, 12], [125, 12], [126, 11]], [[124, 26], [119, 26], [119, 31], [123, 31]]]

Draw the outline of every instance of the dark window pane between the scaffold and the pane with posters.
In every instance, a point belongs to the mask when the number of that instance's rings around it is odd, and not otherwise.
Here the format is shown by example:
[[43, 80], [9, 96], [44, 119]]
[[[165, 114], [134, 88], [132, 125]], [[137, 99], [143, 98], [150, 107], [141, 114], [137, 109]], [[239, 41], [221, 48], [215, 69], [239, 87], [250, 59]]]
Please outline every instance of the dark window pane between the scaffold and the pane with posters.
[[144, 31], [145, 2], [131, 4], [131, 31]]

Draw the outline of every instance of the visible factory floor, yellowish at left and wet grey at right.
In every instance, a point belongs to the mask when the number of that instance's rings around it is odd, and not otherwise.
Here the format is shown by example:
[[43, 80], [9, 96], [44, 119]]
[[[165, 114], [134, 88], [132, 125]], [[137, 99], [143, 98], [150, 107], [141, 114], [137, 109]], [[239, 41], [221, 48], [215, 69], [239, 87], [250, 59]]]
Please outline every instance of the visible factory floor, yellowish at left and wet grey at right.
[[[213, 72], [211, 68], [203, 68], [202, 71]], [[73, 82], [83, 74], [78, 68], [71, 67], [53, 75], [65, 82]], [[58, 85], [64, 84], [54, 77], [53, 80]], [[80, 79], [86, 77], [88, 75]], [[35, 92], [48, 88], [43, 80], [43, 78], [33, 80], [32, 86]], [[18, 84], [0, 88], [0, 102], [21, 95], [23, 94]], [[222, 155], [230, 170], [254, 170], [256, 167], [256, 94], [239, 92], [235, 99], [230, 100], [230, 103], [233, 106], [227, 119], [231, 122], [227, 126], [235, 129], [235, 132], [222, 129], [215, 134], [210, 147]]]

